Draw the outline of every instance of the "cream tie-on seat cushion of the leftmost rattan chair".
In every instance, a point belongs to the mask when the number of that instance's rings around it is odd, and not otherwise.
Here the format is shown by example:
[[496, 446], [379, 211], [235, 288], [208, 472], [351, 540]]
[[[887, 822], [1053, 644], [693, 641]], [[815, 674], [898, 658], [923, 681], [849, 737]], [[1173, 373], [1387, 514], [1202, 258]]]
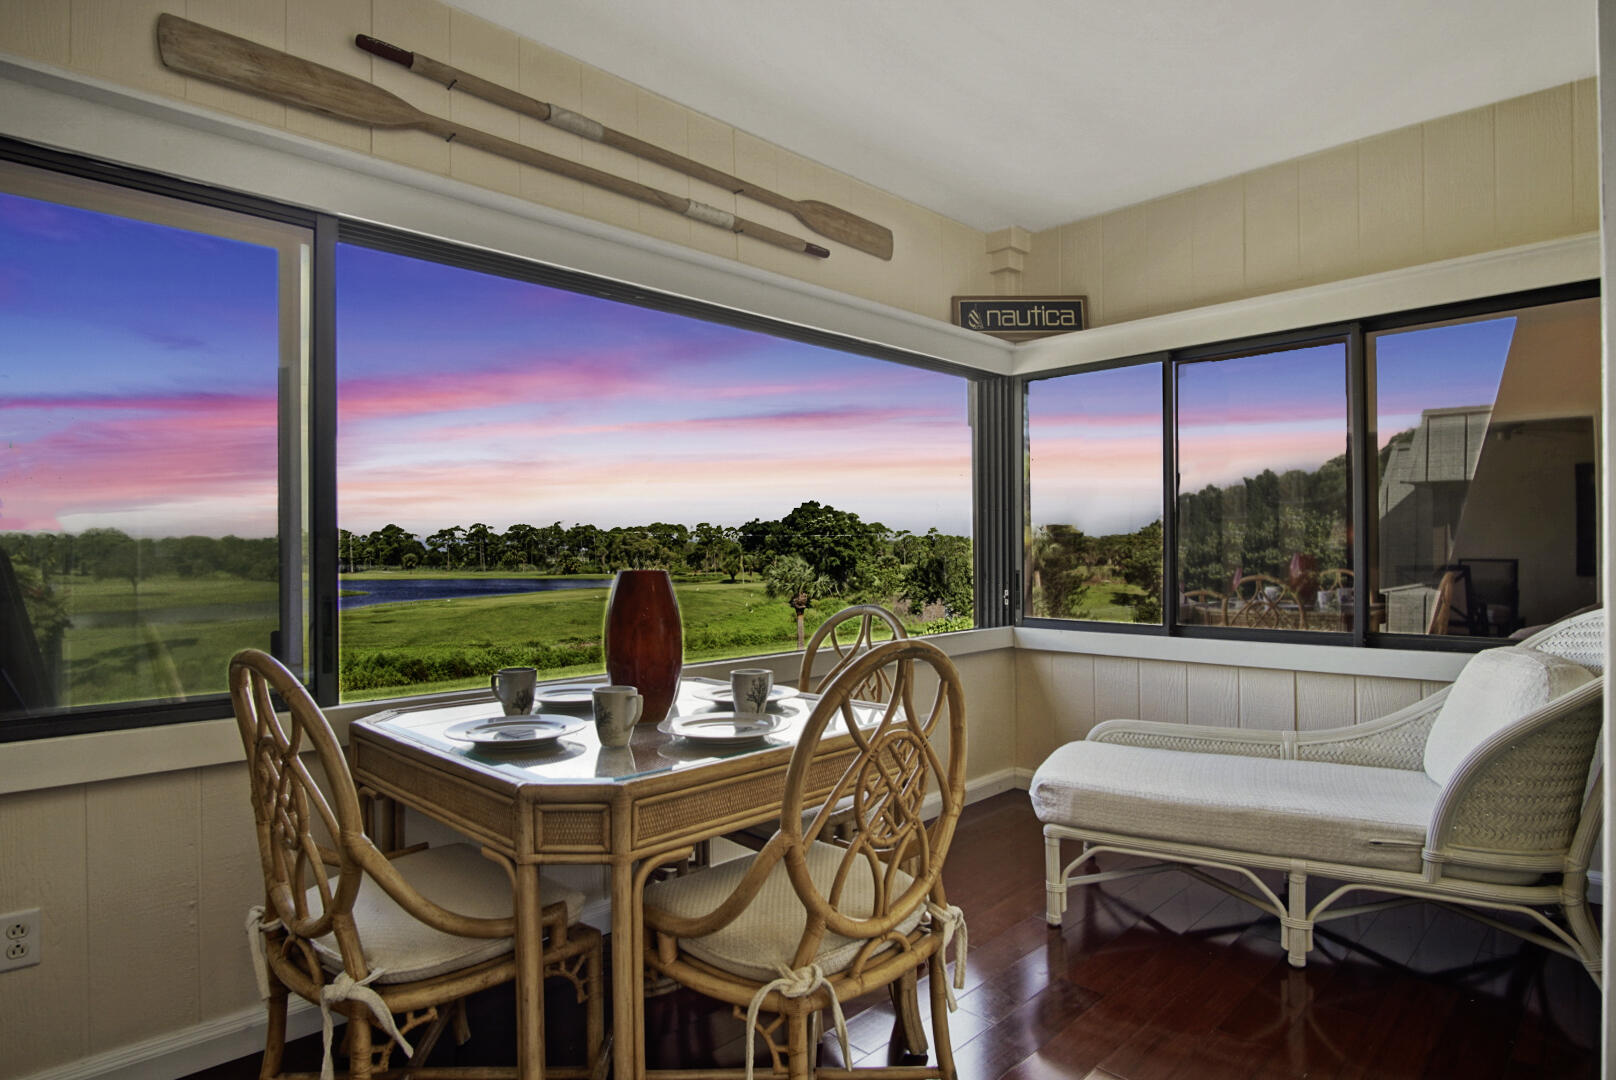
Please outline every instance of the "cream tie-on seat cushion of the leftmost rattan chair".
[[[428, 847], [393, 860], [404, 880], [428, 901], [473, 918], [507, 918], [511, 915], [511, 878], [470, 844]], [[545, 904], [566, 901], [567, 922], [577, 922], [583, 894], [540, 878]], [[318, 897], [309, 889], [309, 904], [318, 910]], [[511, 938], [459, 938], [420, 922], [386, 894], [368, 876], [359, 883], [354, 897], [354, 923], [365, 949], [365, 965], [381, 968], [378, 983], [409, 983], [456, 972], [511, 952]], [[333, 972], [343, 970], [336, 936], [315, 939], [320, 962]]]

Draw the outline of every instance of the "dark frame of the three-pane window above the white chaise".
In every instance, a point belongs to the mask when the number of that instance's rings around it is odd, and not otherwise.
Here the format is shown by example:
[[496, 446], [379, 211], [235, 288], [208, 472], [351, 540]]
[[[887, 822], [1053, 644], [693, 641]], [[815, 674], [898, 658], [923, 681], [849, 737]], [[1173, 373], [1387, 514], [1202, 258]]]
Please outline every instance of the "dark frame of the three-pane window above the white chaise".
[[[1196, 364], [1218, 359], [1238, 359], [1241, 356], [1299, 348], [1307, 344], [1324, 344], [1332, 340], [1346, 343], [1346, 404], [1348, 404], [1348, 474], [1351, 482], [1351, 519], [1348, 522], [1353, 535], [1351, 564], [1356, 580], [1369, 580], [1369, 525], [1374, 519], [1374, 491], [1369, 479], [1375, 472], [1375, 448], [1369, 446], [1367, 433], [1370, 425], [1369, 394], [1369, 359], [1366, 341], [1372, 333], [1404, 330], [1430, 322], [1446, 322], [1456, 319], [1477, 319], [1501, 314], [1522, 307], [1543, 307], [1566, 301], [1590, 299], [1600, 296], [1598, 280], [1582, 280], [1568, 285], [1551, 285], [1545, 288], [1519, 289], [1495, 296], [1412, 307], [1380, 315], [1333, 320], [1294, 330], [1280, 330], [1241, 338], [1225, 338], [1204, 344], [1185, 346], [1178, 349], [1162, 349], [1125, 356], [1091, 364], [1068, 364], [1050, 367], [1034, 373], [1016, 375], [1015, 385], [1020, 394], [1018, 409], [1018, 443], [1023, 453], [1029, 446], [1028, 430], [1028, 390], [1033, 383], [1083, 372], [1097, 372], [1113, 367], [1133, 367], [1141, 364], [1162, 364], [1162, 589], [1176, 590], [1178, 580], [1178, 394], [1176, 370], [1181, 364]], [[1033, 483], [1034, 477], [1023, 477], [1018, 472], [1018, 483]], [[1016, 498], [1018, 534], [1016, 545], [1015, 593], [1016, 593], [1016, 626], [1029, 629], [1083, 631], [1100, 634], [1144, 634], [1151, 637], [1175, 637], [1183, 640], [1230, 640], [1230, 642], [1267, 642], [1267, 643], [1314, 643], [1314, 645], [1351, 645], [1356, 648], [1395, 648], [1406, 652], [1446, 652], [1475, 653], [1508, 643], [1508, 639], [1472, 639], [1472, 637], [1433, 637], [1411, 634], [1385, 634], [1369, 629], [1369, 590], [1359, 589], [1353, 598], [1354, 618], [1353, 631], [1283, 631], [1252, 627], [1214, 627], [1185, 626], [1178, 621], [1178, 608], [1162, 603], [1162, 622], [1104, 622], [1096, 619], [1054, 619], [1033, 616], [1025, 611], [1026, 582], [1023, 569], [1026, 559], [1026, 537], [1031, 529], [1029, 503], [1026, 491], [1018, 490]]]

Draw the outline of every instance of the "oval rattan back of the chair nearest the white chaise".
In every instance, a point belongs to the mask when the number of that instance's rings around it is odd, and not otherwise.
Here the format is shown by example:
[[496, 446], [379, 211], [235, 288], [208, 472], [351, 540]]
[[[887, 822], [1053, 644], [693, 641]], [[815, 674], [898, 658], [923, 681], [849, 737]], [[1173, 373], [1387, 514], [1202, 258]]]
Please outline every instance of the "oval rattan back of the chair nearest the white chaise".
[[[889, 664], [890, 700], [877, 724], [860, 728], [855, 690]], [[916, 702], [924, 702], [924, 708]], [[810, 787], [814, 750], [832, 728], [852, 736], [856, 753], [829, 791], [814, 792]], [[947, 760], [934, 745], [942, 734]], [[941, 808], [928, 826], [921, 815], [932, 789], [941, 795]], [[821, 892], [810, 873], [810, 849], [816, 859], [826, 855], [826, 846], [814, 842], [832, 818], [845, 815], [847, 800], [853, 831], [845, 847], [834, 849], [840, 862], [831, 888]], [[858, 967], [900, 938], [898, 925], [905, 920], [913, 925], [928, 901], [945, 905], [942, 863], [963, 802], [965, 694], [953, 663], [936, 645], [916, 639], [876, 645], [848, 663], [808, 716], [785, 774], [781, 831], [771, 841], [784, 846], [792, 888], [808, 910], [793, 967], [814, 956], [826, 930], [865, 941]], [[855, 912], [842, 905], [850, 889], [868, 897]]]

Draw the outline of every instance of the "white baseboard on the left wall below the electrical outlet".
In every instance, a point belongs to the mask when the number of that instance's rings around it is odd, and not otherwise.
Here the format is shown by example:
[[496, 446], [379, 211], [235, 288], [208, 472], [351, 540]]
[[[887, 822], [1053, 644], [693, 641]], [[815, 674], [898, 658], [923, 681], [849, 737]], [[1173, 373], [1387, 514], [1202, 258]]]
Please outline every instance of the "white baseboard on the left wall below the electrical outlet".
[[[347, 1017], [336, 1015], [338, 1023]], [[175, 1080], [263, 1049], [263, 1004], [238, 1009], [178, 1031], [128, 1043], [21, 1080]], [[286, 1009], [286, 1038], [320, 1030], [320, 1010], [301, 998]]]

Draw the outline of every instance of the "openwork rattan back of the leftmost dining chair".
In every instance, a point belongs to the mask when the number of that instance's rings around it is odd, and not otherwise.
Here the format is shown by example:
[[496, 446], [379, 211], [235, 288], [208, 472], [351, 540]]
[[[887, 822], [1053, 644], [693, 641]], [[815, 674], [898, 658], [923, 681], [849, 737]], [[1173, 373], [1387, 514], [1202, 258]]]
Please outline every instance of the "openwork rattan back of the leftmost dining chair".
[[[286, 703], [284, 721], [275, 713], [270, 690]], [[247, 753], [252, 816], [263, 863], [265, 918], [281, 920], [294, 938], [336, 933], [344, 960], [362, 965], [352, 907], [364, 871], [352, 859], [349, 842], [364, 837], [364, 820], [336, 734], [302, 682], [278, 660], [255, 648], [231, 658], [229, 698]], [[301, 757], [309, 750], [325, 770], [330, 800]], [[336, 844], [335, 849], [320, 842], [317, 823]], [[330, 876], [333, 868], [335, 881]], [[309, 959], [314, 964], [310, 975], [318, 977], [318, 964], [312, 956]]]

